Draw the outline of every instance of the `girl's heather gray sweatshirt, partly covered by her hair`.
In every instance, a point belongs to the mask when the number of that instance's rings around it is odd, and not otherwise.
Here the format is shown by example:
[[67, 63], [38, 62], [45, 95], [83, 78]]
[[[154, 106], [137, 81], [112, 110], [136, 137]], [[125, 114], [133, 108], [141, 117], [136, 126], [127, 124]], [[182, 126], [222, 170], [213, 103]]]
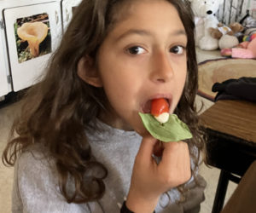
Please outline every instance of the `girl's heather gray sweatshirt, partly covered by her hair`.
[[[129, 191], [132, 167], [142, 137], [134, 131], [117, 130], [98, 123], [101, 133], [88, 131], [86, 135], [96, 160], [108, 170], [103, 198], [87, 204], [67, 204], [58, 186], [54, 159], [45, 158], [44, 149], [37, 145], [22, 153], [15, 164], [13, 213], [119, 213]], [[194, 167], [193, 161], [191, 166]], [[204, 200], [206, 182], [199, 175], [196, 180], [199, 186], [195, 186], [193, 177], [186, 184], [189, 190], [183, 202], [178, 202], [180, 193], [177, 188], [164, 193], [156, 212], [182, 213], [198, 207]]]

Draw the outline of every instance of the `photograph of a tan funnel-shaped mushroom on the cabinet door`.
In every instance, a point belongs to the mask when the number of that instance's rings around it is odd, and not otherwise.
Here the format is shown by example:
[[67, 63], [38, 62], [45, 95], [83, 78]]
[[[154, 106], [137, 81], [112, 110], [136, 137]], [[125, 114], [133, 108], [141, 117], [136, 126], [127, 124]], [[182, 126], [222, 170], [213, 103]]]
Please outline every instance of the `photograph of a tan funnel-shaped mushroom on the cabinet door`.
[[15, 38], [19, 63], [49, 54], [51, 52], [49, 15], [36, 14], [17, 19]]

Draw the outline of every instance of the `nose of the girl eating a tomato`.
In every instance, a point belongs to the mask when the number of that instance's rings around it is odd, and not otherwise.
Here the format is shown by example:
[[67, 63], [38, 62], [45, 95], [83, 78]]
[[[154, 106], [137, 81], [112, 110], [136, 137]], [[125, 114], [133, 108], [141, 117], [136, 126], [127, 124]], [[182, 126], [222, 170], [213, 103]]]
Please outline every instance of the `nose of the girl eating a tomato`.
[[152, 56], [150, 78], [154, 83], [166, 83], [173, 77], [172, 62], [169, 53], [156, 53]]

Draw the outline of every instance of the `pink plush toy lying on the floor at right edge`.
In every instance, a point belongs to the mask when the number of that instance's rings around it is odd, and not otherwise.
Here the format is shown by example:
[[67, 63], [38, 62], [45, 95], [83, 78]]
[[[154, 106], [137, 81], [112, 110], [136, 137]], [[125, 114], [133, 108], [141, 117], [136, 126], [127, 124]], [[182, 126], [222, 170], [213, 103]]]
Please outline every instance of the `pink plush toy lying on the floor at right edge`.
[[244, 42], [239, 43], [236, 48], [222, 49], [221, 55], [232, 58], [255, 59], [256, 58], [256, 33], [245, 37]]

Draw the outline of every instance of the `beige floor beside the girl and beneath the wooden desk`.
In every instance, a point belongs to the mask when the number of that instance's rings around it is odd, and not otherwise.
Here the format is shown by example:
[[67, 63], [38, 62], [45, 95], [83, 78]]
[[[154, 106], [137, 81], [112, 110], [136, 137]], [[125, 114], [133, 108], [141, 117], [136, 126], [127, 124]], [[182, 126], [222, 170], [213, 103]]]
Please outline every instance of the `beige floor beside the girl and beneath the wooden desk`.
[[[202, 108], [203, 112], [208, 107], [212, 106], [211, 101], [207, 101], [197, 96], [196, 103], [198, 107], [201, 107], [203, 103], [204, 106]], [[19, 112], [20, 105], [18, 103], [11, 104], [6, 107], [0, 108], [0, 154], [2, 156], [3, 148], [6, 145], [6, 141], [8, 140], [9, 130], [11, 124], [15, 118], [15, 115]], [[11, 212], [11, 190], [12, 190], [12, 182], [13, 182], [13, 168], [4, 167], [2, 162], [0, 163], [0, 213], [9, 213]], [[215, 190], [217, 187], [219, 170], [208, 168], [204, 164], [201, 165], [200, 169], [201, 176], [207, 180], [207, 189], [205, 192], [206, 200], [203, 204], [201, 204], [201, 213], [210, 213], [212, 210], [212, 203], [215, 195]], [[228, 192], [226, 199], [230, 198], [230, 194], [236, 188], [236, 184], [230, 182], [228, 187]]]

